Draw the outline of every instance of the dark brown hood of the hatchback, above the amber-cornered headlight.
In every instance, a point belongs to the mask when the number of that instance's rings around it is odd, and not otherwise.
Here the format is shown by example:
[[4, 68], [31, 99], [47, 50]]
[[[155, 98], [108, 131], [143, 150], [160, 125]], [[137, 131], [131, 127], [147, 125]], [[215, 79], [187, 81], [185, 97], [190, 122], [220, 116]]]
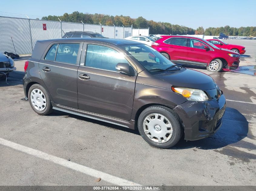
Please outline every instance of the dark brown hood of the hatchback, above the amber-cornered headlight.
[[174, 73], [165, 72], [158, 74], [157, 76], [174, 86], [200, 90], [211, 90], [216, 88], [216, 84], [210, 76], [193, 69], [181, 68], [180, 71], [175, 71]]

